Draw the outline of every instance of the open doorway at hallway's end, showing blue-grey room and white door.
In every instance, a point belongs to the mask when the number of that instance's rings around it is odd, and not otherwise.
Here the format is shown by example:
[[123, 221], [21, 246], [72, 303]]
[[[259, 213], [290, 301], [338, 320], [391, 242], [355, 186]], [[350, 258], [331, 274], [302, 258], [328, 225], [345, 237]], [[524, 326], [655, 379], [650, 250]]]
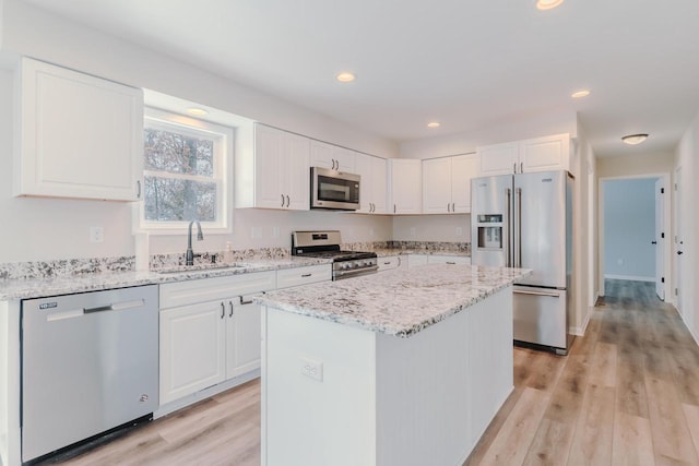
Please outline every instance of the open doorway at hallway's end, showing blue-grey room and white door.
[[670, 283], [668, 174], [601, 178], [599, 196], [600, 294], [604, 280], [652, 282], [661, 300]]

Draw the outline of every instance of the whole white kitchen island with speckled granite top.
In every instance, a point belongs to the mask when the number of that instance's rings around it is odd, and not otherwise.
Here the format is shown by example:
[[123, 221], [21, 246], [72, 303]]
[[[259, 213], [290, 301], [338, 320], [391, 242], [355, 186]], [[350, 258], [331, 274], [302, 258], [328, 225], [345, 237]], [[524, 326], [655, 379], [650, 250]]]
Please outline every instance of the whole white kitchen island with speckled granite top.
[[529, 273], [426, 265], [259, 297], [262, 464], [462, 464], [512, 390]]

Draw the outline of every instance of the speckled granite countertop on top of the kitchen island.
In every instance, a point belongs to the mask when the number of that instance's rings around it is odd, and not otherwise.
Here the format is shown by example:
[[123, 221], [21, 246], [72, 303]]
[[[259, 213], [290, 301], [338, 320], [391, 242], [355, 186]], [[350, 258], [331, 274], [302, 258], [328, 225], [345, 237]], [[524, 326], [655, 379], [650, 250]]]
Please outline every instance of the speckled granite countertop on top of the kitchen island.
[[512, 285], [524, 268], [431, 264], [256, 297], [297, 314], [408, 337]]

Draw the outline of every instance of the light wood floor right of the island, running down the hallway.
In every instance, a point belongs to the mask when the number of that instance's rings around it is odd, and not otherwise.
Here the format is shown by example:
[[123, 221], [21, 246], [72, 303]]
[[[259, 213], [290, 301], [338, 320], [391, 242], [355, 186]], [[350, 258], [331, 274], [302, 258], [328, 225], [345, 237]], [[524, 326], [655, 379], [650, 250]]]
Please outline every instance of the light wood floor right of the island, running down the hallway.
[[568, 357], [514, 349], [466, 465], [697, 465], [699, 347], [653, 283], [607, 280]]

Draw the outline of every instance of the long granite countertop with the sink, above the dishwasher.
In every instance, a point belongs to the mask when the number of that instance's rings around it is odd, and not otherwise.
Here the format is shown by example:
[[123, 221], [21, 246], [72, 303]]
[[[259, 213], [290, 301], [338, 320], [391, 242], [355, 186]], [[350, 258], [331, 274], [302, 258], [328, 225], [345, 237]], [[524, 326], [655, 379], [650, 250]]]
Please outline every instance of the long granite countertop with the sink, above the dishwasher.
[[287, 256], [280, 259], [253, 259], [238, 263], [240, 266], [215, 268], [208, 266], [190, 267], [179, 272], [105, 272], [76, 275], [62, 275], [51, 278], [27, 278], [0, 280], [0, 301], [31, 299], [45, 296], [69, 295], [73, 292], [96, 291], [100, 289], [126, 288], [130, 286], [155, 285], [185, 282], [198, 278], [211, 278], [248, 274], [264, 271], [279, 271], [308, 265], [330, 264], [328, 259]]

